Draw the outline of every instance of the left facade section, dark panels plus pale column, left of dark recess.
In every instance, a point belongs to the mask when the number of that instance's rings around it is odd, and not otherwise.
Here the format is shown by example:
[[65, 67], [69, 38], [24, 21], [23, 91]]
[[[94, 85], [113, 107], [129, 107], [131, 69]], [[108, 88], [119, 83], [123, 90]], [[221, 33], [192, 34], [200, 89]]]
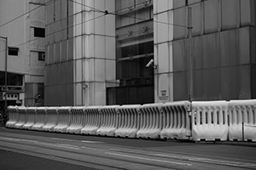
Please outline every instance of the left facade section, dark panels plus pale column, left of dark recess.
[[106, 88], [117, 81], [115, 17], [104, 11], [114, 11], [114, 5], [114, 0], [46, 5], [45, 105], [106, 104]]

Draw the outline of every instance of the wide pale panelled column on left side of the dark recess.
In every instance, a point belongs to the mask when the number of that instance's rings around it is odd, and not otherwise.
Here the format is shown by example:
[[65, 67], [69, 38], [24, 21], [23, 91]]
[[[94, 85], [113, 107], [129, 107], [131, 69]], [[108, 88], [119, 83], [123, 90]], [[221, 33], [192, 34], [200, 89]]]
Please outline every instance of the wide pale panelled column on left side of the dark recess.
[[82, 20], [83, 105], [106, 105], [106, 88], [115, 80], [114, 0], [85, 0]]

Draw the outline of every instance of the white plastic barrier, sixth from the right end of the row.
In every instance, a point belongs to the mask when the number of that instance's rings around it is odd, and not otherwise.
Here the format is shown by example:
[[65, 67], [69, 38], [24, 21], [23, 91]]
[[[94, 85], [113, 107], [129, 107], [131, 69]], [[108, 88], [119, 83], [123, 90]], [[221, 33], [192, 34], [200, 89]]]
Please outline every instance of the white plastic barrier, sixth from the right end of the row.
[[102, 125], [96, 131], [97, 135], [114, 136], [118, 128], [118, 110], [119, 105], [110, 105], [102, 107]]

